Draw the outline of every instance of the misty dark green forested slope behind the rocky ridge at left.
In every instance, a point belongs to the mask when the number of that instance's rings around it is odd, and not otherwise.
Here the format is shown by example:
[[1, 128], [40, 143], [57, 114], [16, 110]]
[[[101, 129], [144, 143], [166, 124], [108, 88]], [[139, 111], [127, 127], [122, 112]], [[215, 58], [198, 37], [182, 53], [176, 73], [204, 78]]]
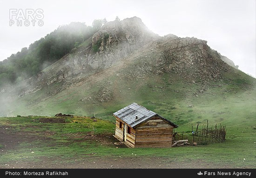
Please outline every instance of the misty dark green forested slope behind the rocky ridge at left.
[[28, 48], [24, 47], [20, 52], [0, 61], [0, 86], [36, 75], [88, 40], [105, 23], [106, 18], [94, 20], [92, 26], [81, 22], [59, 26], [44, 38], [30, 44]]

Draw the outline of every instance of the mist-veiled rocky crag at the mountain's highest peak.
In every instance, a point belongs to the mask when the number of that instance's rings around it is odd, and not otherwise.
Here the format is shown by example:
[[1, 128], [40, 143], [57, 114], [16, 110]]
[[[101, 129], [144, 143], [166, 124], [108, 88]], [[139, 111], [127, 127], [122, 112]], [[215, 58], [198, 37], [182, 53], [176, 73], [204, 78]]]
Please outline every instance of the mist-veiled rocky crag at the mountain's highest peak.
[[96, 55], [95, 50], [88, 51], [88, 65], [110, 67], [157, 38], [159, 36], [150, 32], [137, 17], [108, 22], [92, 37], [93, 50], [98, 48], [98, 51]]

